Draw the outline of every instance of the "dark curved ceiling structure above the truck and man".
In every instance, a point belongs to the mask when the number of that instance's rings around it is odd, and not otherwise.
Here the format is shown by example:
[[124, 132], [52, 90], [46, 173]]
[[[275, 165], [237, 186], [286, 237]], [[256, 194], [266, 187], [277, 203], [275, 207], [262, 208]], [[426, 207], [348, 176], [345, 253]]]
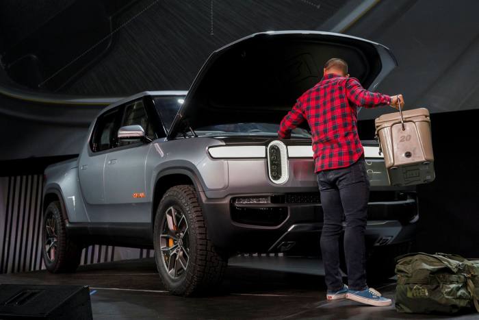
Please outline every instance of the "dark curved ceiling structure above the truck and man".
[[[377, 90], [403, 93], [406, 108], [479, 107], [477, 1], [464, 10], [448, 0], [45, 0], [49, 11], [18, 14], [23, 2], [0, 5], [0, 160], [78, 153], [107, 104], [143, 90], [185, 90], [211, 51], [269, 29], [334, 30], [386, 45], [399, 66]], [[86, 19], [88, 5], [101, 10]], [[85, 19], [69, 20], [72, 12]], [[384, 112], [363, 109], [360, 118]]]

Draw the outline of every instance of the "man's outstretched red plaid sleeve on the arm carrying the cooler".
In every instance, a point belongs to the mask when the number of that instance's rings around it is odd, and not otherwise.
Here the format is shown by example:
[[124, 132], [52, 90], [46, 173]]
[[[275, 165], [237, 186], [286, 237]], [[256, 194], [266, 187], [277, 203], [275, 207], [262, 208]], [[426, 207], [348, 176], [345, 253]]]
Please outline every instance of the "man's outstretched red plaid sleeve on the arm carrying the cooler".
[[393, 102], [389, 95], [367, 91], [356, 78], [349, 78], [346, 82], [346, 95], [348, 100], [358, 107], [374, 108], [390, 106]]

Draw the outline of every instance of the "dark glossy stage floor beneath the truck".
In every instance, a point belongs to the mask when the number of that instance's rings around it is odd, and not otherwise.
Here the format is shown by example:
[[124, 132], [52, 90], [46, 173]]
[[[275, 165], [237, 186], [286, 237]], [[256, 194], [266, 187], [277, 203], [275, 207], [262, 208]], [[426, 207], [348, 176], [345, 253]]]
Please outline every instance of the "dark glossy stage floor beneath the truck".
[[[238, 256], [230, 260], [218, 294], [196, 298], [165, 291], [152, 258], [92, 264], [72, 274], [0, 275], [0, 283], [88, 285], [94, 319], [448, 319], [404, 315], [393, 306], [326, 301], [321, 265], [316, 258]], [[370, 286], [394, 295], [393, 280]]]

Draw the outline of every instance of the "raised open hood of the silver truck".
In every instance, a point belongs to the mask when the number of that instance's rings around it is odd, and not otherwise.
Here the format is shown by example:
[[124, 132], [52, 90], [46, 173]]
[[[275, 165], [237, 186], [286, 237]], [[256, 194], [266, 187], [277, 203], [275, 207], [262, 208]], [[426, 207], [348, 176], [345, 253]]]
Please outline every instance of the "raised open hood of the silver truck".
[[318, 83], [324, 64], [333, 57], [346, 60], [350, 75], [369, 90], [397, 65], [387, 47], [344, 34], [253, 34], [211, 53], [188, 90], [168, 138], [189, 127], [280, 123], [296, 99]]

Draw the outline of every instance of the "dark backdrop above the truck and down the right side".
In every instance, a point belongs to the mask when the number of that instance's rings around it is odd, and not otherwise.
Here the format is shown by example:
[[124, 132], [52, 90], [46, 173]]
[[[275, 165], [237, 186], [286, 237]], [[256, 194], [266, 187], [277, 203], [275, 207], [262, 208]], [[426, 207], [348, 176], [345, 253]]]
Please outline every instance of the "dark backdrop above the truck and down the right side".
[[[479, 258], [478, 10], [474, 0], [4, 0], [0, 174], [41, 173], [75, 155], [107, 103], [142, 90], [187, 90], [211, 51], [238, 38], [342, 32], [390, 47], [399, 66], [378, 91], [432, 112], [437, 180], [418, 188], [415, 248]], [[361, 138], [371, 139], [372, 119], [390, 111], [361, 110]]]

